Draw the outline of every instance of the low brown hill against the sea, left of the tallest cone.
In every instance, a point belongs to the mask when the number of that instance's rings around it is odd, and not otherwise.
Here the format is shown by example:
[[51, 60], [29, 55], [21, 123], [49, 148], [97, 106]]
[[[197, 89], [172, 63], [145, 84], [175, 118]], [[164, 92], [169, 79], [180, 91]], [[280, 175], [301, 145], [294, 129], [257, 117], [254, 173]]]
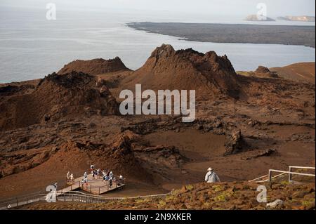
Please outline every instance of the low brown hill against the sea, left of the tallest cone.
[[74, 71], [96, 75], [124, 70], [129, 69], [124, 65], [119, 57], [110, 60], [97, 58], [93, 60], [74, 60], [62, 67], [58, 74], [67, 74]]

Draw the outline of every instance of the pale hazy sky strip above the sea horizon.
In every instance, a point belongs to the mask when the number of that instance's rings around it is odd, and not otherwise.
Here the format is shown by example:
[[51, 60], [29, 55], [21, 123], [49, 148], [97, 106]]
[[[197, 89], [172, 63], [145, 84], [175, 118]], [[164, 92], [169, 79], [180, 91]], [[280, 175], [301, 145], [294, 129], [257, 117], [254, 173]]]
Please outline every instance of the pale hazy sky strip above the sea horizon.
[[214, 15], [256, 14], [257, 4], [262, 2], [266, 4], [268, 16], [271, 17], [315, 16], [315, 0], [0, 0], [0, 6], [43, 8], [50, 2], [65, 10], [164, 11]]

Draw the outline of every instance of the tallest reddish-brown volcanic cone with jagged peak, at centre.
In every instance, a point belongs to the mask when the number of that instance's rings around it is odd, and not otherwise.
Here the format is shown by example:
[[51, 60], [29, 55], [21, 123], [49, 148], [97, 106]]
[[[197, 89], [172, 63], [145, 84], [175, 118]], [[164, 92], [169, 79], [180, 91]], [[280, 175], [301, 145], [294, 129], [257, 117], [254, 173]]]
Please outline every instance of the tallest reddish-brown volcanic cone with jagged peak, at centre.
[[227, 56], [214, 51], [199, 53], [192, 50], [175, 51], [171, 45], [156, 48], [145, 65], [122, 81], [122, 86], [134, 89], [178, 89], [197, 92], [197, 98], [211, 98], [218, 94], [239, 94], [237, 74]]

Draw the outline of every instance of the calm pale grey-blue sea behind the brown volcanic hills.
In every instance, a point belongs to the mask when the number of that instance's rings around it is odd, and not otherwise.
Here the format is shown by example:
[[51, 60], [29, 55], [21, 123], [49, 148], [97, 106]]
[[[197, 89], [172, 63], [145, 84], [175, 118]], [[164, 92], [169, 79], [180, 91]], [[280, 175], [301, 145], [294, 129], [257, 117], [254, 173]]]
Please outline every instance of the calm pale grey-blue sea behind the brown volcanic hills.
[[[315, 48], [279, 44], [216, 44], [179, 40], [137, 31], [127, 22], [249, 23], [242, 18], [169, 15], [138, 11], [57, 11], [46, 20], [46, 9], [0, 8], [0, 83], [43, 78], [72, 60], [119, 56], [132, 70], [141, 67], [157, 46], [216, 51], [228, 55], [235, 70], [255, 70], [258, 65], [279, 67], [315, 61]], [[252, 22], [256, 23], [256, 22]], [[271, 22], [265, 23], [271, 24]], [[315, 25], [315, 22], [279, 21], [278, 25]]]

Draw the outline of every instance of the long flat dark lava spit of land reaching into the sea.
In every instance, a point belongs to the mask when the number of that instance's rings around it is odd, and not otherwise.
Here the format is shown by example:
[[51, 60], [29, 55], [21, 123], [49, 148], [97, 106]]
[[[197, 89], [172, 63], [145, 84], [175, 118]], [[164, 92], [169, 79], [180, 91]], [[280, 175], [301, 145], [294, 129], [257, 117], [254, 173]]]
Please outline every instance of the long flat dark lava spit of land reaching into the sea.
[[315, 26], [241, 25], [183, 22], [129, 22], [133, 29], [187, 41], [241, 44], [286, 44], [315, 48]]

